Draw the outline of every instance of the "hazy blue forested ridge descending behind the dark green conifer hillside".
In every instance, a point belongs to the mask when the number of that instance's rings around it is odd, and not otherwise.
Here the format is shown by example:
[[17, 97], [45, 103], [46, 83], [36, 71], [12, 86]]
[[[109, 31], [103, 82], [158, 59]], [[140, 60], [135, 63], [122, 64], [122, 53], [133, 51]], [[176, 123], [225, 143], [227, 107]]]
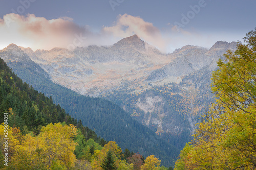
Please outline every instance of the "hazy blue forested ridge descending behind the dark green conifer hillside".
[[119, 106], [100, 98], [77, 94], [54, 84], [48, 74], [18, 46], [9, 45], [0, 51], [0, 57], [24, 81], [47, 96], [51, 95], [55, 103], [73, 117], [82, 119], [83, 125], [92, 128], [104, 139], [114, 140], [121, 148], [139, 152], [144, 156], [154, 154], [162, 160], [163, 165], [173, 165], [177, 159], [177, 148], [138, 123]]

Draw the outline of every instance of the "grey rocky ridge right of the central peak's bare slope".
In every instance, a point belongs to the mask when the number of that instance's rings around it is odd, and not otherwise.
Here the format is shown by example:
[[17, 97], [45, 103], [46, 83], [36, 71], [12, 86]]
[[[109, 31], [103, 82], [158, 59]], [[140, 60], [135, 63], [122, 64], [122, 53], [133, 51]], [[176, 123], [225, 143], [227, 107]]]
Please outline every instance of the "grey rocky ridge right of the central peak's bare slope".
[[217, 61], [227, 50], [236, 50], [236, 44], [236, 42], [218, 41], [209, 50], [192, 45], [183, 46], [173, 53], [178, 56], [173, 62], [154, 70], [148, 76], [147, 81], [154, 82], [167, 77], [185, 76], [203, 67], [212, 71], [217, 67]]

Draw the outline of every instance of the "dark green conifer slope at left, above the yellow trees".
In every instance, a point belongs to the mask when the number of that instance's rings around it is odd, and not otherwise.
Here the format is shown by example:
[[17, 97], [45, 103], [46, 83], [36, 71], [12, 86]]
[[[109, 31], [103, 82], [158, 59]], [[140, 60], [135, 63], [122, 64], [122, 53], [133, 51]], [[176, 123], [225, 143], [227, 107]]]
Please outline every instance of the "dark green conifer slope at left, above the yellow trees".
[[[24, 59], [22, 60], [25, 61]], [[106, 143], [91, 129], [83, 127], [80, 121], [77, 122], [59, 105], [54, 104], [52, 98], [47, 98], [43, 93], [23, 82], [2, 58], [0, 58], [0, 111], [2, 113], [0, 123], [4, 122], [3, 113], [8, 113], [8, 125], [20, 128], [23, 133], [33, 131], [39, 134], [42, 126], [66, 122], [68, 125], [77, 126], [84, 134], [84, 139], [93, 139], [102, 145]]]

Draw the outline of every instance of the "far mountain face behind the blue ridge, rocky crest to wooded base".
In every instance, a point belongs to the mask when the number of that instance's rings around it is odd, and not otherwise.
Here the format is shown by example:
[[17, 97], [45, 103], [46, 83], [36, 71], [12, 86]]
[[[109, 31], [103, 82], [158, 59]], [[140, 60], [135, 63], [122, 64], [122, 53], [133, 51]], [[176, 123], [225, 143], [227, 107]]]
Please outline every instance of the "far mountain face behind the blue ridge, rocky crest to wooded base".
[[[210, 72], [227, 50], [236, 50], [236, 44], [218, 41], [209, 49], [186, 45], [163, 54], [133, 35], [111, 46], [74, 51], [22, 49], [54, 83], [108, 99], [157, 133], [180, 134], [194, 132], [198, 117], [211, 102]], [[183, 120], [173, 121], [170, 112]]]

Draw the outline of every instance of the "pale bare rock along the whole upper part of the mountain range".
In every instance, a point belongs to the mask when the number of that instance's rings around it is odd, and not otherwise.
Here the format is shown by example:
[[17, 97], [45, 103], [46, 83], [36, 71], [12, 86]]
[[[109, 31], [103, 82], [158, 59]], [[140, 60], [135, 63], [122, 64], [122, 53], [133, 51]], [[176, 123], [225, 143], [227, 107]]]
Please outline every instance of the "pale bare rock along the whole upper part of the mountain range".
[[236, 42], [217, 41], [209, 50], [186, 45], [167, 55], [133, 35], [112, 46], [77, 47], [74, 51], [55, 47], [33, 52], [31, 48], [10, 44], [3, 50], [6, 55], [2, 57], [8, 60], [7, 54], [10, 54], [16, 58], [9, 57], [9, 60], [19, 61], [29, 56], [54, 82], [97, 96], [120, 88], [123, 82], [139, 89], [148, 82], [180, 82], [182, 77], [202, 68], [212, 71], [219, 58], [227, 50], [236, 50], [236, 45]]

